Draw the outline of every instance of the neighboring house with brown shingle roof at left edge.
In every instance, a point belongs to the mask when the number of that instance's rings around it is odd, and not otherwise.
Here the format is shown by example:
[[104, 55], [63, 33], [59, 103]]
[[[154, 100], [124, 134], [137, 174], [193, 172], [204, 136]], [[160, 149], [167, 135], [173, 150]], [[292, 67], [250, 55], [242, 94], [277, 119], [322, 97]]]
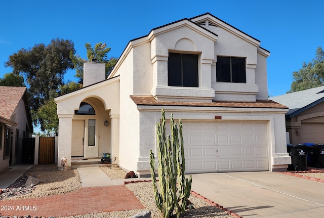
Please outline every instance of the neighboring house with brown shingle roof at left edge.
[[23, 139], [32, 132], [27, 88], [0, 86], [0, 170], [21, 162]]

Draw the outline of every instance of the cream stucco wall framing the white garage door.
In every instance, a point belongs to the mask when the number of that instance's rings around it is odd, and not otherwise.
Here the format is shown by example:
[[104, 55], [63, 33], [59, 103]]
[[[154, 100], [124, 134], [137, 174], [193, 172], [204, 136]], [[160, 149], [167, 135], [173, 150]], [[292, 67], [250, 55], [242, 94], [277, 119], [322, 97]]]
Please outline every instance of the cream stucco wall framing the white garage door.
[[[174, 119], [190, 121], [215, 121], [215, 114], [222, 116], [222, 121], [252, 120], [267, 121], [268, 123], [268, 144], [269, 144], [269, 170], [286, 169], [290, 164], [290, 157], [286, 150], [286, 133], [284, 112], [286, 109], [255, 109], [255, 108], [196, 108], [186, 107], [185, 110], [179, 107], [164, 107], [166, 118], [170, 119], [173, 113]], [[140, 112], [140, 148], [136, 157], [136, 170], [139, 175], [149, 174], [149, 150], [156, 154], [156, 123], [161, 117], [159, 106], [138, 106]], [[131, 143], [131, 141], [129, 142]], [[135, 168], [135, 169], [134, 169]]]

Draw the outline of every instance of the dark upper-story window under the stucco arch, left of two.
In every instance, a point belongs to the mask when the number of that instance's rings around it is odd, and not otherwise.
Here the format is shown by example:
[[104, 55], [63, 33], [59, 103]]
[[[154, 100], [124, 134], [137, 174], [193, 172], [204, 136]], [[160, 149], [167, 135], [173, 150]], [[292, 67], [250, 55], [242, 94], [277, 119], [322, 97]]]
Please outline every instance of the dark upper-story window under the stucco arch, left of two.
[[168, 85], [198, 87], [198, 55], [169, 53]]

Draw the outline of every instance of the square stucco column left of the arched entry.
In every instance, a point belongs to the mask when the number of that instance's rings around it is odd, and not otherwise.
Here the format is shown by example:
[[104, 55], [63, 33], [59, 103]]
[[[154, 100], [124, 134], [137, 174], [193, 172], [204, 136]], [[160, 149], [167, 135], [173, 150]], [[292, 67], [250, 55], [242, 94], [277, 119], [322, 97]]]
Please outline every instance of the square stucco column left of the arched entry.
[[61, 158], [67, 158], [67, 166], [71, 167], [72, 146], [72, 117], [73, 114], [58, 114], [59, 117], [59, 144], [57, 155], [57, 166], [61, 167]]

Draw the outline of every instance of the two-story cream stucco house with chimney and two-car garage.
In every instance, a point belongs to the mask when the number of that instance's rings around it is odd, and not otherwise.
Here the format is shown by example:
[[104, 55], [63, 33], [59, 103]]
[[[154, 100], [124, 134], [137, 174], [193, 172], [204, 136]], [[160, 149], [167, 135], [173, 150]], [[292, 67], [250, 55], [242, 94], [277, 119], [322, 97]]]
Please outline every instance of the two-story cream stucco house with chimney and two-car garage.
[[85, 87], [56, 98], [58, 158], [109, 152], [149, 175], [164, 108], [183, 121], [186, 172], [286, 170], [288, 109], [268, 100], [269, 55], [209, 13], [154, 28], [128, 43], [107, 79], [103, 64], [86, 63]]

